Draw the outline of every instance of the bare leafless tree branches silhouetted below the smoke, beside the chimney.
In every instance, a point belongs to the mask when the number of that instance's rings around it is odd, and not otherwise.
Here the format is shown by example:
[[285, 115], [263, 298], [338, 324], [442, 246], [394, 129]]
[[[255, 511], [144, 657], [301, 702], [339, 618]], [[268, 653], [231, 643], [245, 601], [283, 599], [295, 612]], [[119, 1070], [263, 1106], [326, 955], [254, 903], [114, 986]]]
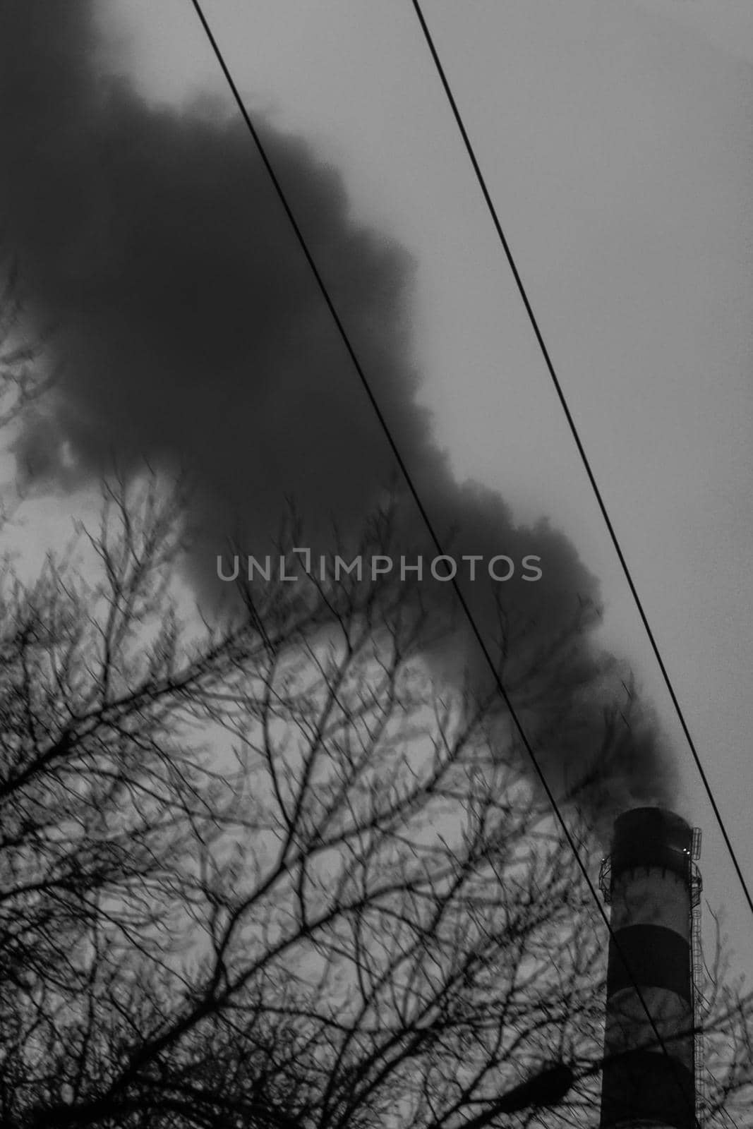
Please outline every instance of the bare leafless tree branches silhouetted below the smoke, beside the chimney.
[[[494, 702], [428, 676], [452, 627], [356, 576], [198, 625], [180, 489], [0, 586], [1, 1123], [595, 1123], [604, 929]], [[721, 1124], [751, 1008], [709, 1007]]]

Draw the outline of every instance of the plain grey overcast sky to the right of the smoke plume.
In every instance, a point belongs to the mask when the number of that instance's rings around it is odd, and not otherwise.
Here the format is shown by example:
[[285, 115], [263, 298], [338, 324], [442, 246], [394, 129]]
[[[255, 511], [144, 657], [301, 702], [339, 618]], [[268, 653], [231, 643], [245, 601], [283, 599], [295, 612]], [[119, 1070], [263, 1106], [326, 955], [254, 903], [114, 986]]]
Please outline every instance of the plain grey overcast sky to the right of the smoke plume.
[[[227, 97], [187, 0], [98, 10], [108, 64], [148, 97]], [[427, 0], [424, 11], [753, 881], [751, 7]], [[601, 577], [605, 641], [632, 659], [674, 736], [708, 896], [727, 904], [753, 966], [750, 912], [411, 5], [207, 0], [205, 12], [252, 111], [310, 139], [354, 216], [413, 253], [420, 397], [457, 475], [499, 489], [516, 517], [549, 515]]]

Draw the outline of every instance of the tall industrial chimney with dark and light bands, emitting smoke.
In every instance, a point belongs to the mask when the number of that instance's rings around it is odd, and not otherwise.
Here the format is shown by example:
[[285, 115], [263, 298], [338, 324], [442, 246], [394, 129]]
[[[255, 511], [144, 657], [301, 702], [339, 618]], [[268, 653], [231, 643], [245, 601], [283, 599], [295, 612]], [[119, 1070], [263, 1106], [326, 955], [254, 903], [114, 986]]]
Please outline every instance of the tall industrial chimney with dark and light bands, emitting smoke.
[[697, 1124], [699, 852], [700, 831], [673, 812], [638, 807], [615, 821], [601, 876], [613, 930], [601, 1129]]

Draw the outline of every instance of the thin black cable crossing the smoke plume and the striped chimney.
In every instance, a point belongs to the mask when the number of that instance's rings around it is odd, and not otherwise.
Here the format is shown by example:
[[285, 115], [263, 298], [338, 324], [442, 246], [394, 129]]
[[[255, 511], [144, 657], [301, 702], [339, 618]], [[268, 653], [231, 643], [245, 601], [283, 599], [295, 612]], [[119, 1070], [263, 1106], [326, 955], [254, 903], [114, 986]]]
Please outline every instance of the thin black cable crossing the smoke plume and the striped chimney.
[[[324, 279], [322, 278], [322, 274], [319, 273], [318, 266], [316, 265], [316, 262], [314, 260], [314, 256], [312, 255], [312, 252], [309, 251], [308, 243], [306, 242], [306, 237], [304, 236], [304, 233], [303, 233], [300, 226], [298, 225], [298, 221], [296, 219], [296, 216], [295, 216], [295, 213], [294, 213], [290, 204], [288, 203], [288, 199], [286, 196], [284, 190], [283, 190], [283, 187], [282, 187], [282, 185], [281, 185], [281, 183], [280, 183], [280, 181], [279, 181], [279, 178], [278, 178], [278, 176], [277, 176], [277, 174], [274, 172], [274, 168], [273, 168], [273, 166], [272, 166], [272, 164], [271, 164], [271, 161], [269, 159], [269, 156], [266, 154], [264, 145], [262, 143], [262, 140], [260, 138], [259, 131], [256, 130], [256, 126], [254, 125], [254, 123], [253, 123], [253, 121], [251, 119], [251, 115], [249, 115], [248, 111], [246, 110], [246, 105], [245, 105], [245, 103], [244, 103], [244, 100], [243, 100], [243, 98], [240, 96], [240, 91], [238, 90], [238, 88], [237, 88], [237, 86], [235, 84], [235, 79], [233, 78], [233, 76], [230, 73], [230, 70], [229, 70], [229, 68], [228, 68], [228, 65], [227, 65], [227, 63], [225, 61], [225, 56], [222, 55], [222, 52], [220, 51], [219, 44], [217, 43], [217, 40], [214, 38], [212, 29], [211, 29], [211, 27], [209, 26], [209, 24], [207, 21], [207, 18], [205, 18], [205, 16], [203, 14], [200, 0], [191, 0], [191, 3], [193, 6], [193, 8], [194, 8], [194, 11], [196, 12], [196, 16], [199, 17], [199, 20], [201, 21], [201, 25], [202, 25], [202, 27], [204, 29], [204, 34], [207, 35], [207, 38], [208, 38], [208, 41], [209, 41], [209, 43], [210, 43], [210, 45], [212, 47], [212, 51], [213, 51], [214, 56], [217, 59], [217, 62], [218, 62], [218, 64], [219, 64], [222, 73], [225, 76], [225, 79], [226, 79], [226, 81], [228, 84], [228, 87], [230, 88], [230, 91], [233, 94], [234, 100], [235, 100], [235, 103], [236, 103], [236, 105], [238, 107], [238, 111], [239, 111], [239, 113], [240, 113], [240, 115], [242, 115], [242, 117], [243, 117], [243, 120], [244, 120], [244, 122], [246, 124], [246, 128], [248, 129], [248, 132], [249, 132], [249, 134], [251, 134], [251, 137], [252, 137], [252, 139], [254, 141], [254, 145], [256, 146], [256, 150], [259, 152], [259, 156], [260, 156], [260, 158], [262, 160], [262, 164], [264, 165], [264, 168], [266, 169], [266, 172], [269, 174], [269, 177], [270, 177], [270, 180], [272, 182], [274, 191], [275, 191], [275, 193], [277, 193], [277, 195], [279, 198], [280, 204], [282, 205], [282, 209], [284, 210], [284, 213], [288, 217], [288, 220], [290, 221], [290, 225], [291, 225], [292, 230], [294, 230], [294, 233], [296, 235], [296, 238], [298, 240], [300, 250], [301, 250], [301, 252], [303, 252], [303, 254], [304, 254], [304, 256], [306, 259], [306, 262], [308, 263], [308, 265], [309, 265], [309, 268], [312, 270], [312, 273], [313, 273], [313, 275], [314, 275], [314, 278], [316, 280], [316, 285], [317, 285], [317, 287], [319, 289], [322, 298], [324, 299], [324, 301], [326, 304], [326, 307], [330, 310], [330, 314], [331, 314], [332, 320], [334, 321], [334, 324], [335, 324], [335, 326], [338, 329], [338, 332], [340, 334], [342, 343], [345, 347], [345, 350], [347, 350], [347, 352], [348, 352], [348, 355], [349, 355], [349, 357], [350, 357], [350, 359], [351, 359], [351, 361], [353, 364], [353, 367], [354, 367], [354, 369], [356, 369], [356, 371], [358, 374], [358, 377], [359, 377], [359, 379], [361, 382], [364, 391], [365, 391], [365, 393], [366, 393], [366, 395], [367, 395], [367, 397], [369, 400], [369, 403], [371, 404], [371, 406], [374, 409], [374, 412], [375, 412], [375, 414], [377, 417], [379, 426], [382, 427], [382, 430], [384, 431], [385, 438], [386, 438], [387, 444], [389, 445], [389, 448], [391, 448], [391, 450], [392, 450], [392, 453], [393, 453], [393, 455], [395, 457], [397, 466], [400, 467], [400, 471], [401, 471], [403, 478], [405, 479], [405, 484], [408, 485], [409, 492], [410, 492], [413, 501], [415, 502], [415, 506], [417, 506], [417, 508], [419, 510], [419, 514], [421, 515], [421, 519], [423, 520], [423, 523], [426, 525], [426, 528], [427, 528], [427, 531], [429, 533], [429, 536], [431, 537], [431, 541], [435, 544], [435, 548], [437, 549], [438, 554], [440, 557], [444, 557], [445, 553], [443, 552], [443, 546], [441, 546], [439, 537], [438, 537], [438, 535], [437, 535], [437, 533], [435, 531], [434, 524], [431, 523], [431, 519], [430, 519], [430, 517], [429, 517], [429, 515], [428, 515], [428, 513], [427, 513], [427, 510], [426, 510], [426, 508], [423, 506], [423, 502], [421, 501], [421, 498], [420, 498], [420, 496], [418, 493], [418, 490], [415, 489], [415, 485], [414, 485], [413, 480], [411, 478], [411, 474], [410, 474], [410, 472], [408, 470], [408, 466], [405, 465], [403, 456], [401, 455], [400, 449], [399, 449], [399, 447], [397, 447], [397, 445], [396, 445], [396, 443], [395, 443], [395, 440], [394, 440], [394, 438], [392, 436], [392, 431], [389, 430], [389, 426], [387, 425], [387, 421], [386, 421], [386, 419], [385, 419], [385, 417], [384, 417], [384, 414], [383, 414], [383, 412], [382, 412], [382, 410], [379, 408], [379, 404], [378, 404], [378, 402], [377, 402], [377, 400], [376, 400], [376, 397], [375, 397], [375, 395], [374, 395], [374, 393], [371, 391], [371, 386], [370, 386], [370, 384], [368, 382], [368, 378], [366, 376], [366, 373], [364, 371], [364, 368], [361, 367], [361, 364], [360, 364], [360, 361], [359, 361], [359, 359], [358, 359], [358, 357], [356, 355], [356, 351], [354, 351], [354, 349], [353, 349], [353, 347], [351, 344], [350, 338], [349, 338], [348, 332], [347, 332], [347, 330], [345, 330], [345, 327], [344, 327], [344, 325], [342, 323], [342, 320], [341, 320], [341, 317], [340, 317], [340, 315], [338, 313], [338, 309], [336, 309], [336, 307], [335, 307], [332, 298], [330, 297], [330, 292], [329, 292], [327, 288], [326, 288]], [[481, 632], [480, 632], [480, 630], [479, 630], [479, 628], [476, 625], [476, 622], [475, 622], [475, 620], [474, 620], [474, 618], [473, 618], [473, 615], [471, 613], [471, 609], [469, 607], [469, 604], [467, 604], [467, 602], [465, 599], [465, 596], [463, 595], [463, 592], [462, 592], [462, 589], [459, 587], [459, 584], [457, 583], [457, 579], [455, 577], [453, 577], [450, 579], [450, 584], [452, 584], [453, 590], [455, 592], [455, 595], [456, 595], [456, 597], [457, 597], [457, 599], [458, 599], [458, 602], [461, 604], [463, 613], [464, 613], [464, 615], [466, 616], [466, 619], [469, 621], [469, 624], [470, 624], [471, 630], [473, 632], [473, 636], [474, 636], [474, 638], [475, 638], [475, 640], [476, 640], [476, 642], [478, 642], [478, 645], [479, 645], [479, 647], [481, 649], [481, 653], [482, 653], [485, 662], [489, 665], [489, 668], [490, 668], [490, 671], [492, 673], [492, 676], [493, 676], [493, 680], [494, 680], [494, 684], [496, 684], [496, 686], [497, 686], [497, 689], [498, 689], [498, 691], [499, 691], [499, 693], [500, 693], [500, 695], [502, 698], [502, 701], [505, 702], [505, 704], [506, 704], [506, 707], [507, 707], [507, 709], [509, 711], [510, 718], [511, 718], [513, 724], [515, 726], [515, 729], [516, 729], [516, 732], [517, 732], [517, 734], [518, 734], [518, 736], [520, 738], [520, 742], [522, 742], [522, 744], [523, 744], [526, 753], [528, 754], [528, 758], [529, 758], [531, 763], [532, 763], [532, 765], [534, 768], [534, 771], [535, 771], [535, 773], [536, 773], [536, 776], [537, 776], [537, 778], [540, 780], [540, 784], [541, 784], [541, 786], [542, 786], [542, 788], [544, 790], [544, 794], [545, 794], [545, 796], [546, 796], [546, 798], [548, 798], [548, 800], [549, 800], [549, 803], [550, 803], [550, 805], [552, 807], [552, 811], [554, 812], [554, 815], [557, 817], [558, 823], [560, 824], [560, 826], [562, 829], [562, 833], [563, 833], [563, 835], [564, 835], [564, 838], [566, 838], [566, 840], [568, 842], [568, 846], [569, 846], [570, 850], [572, 851], [572, 855], [573, 855], [575, 860], [577, 863], [578, 869], [580, 870], [580, 873], [581, 873], [581, 875], [584, 877], [584, 881], [585, 881], [585, 883], [586, 883], [586, 885], [588, 887], [588, 891], [589, 891], [589, 893], [590, 893], [590, 895], [592, 895], [592, 898], [593, 898], [593, 900], [594, 900], [594, 902], [596, 904], [596, 908], [597, 908], [597, 910], [598, 910], [598, 912], [599, 912], [599, 914], [601, 914], [601, 917], [602, 917], [602, 919], [603, 919], [603, 921], [604, 921], [604, 924], [605, 924], [605, 926], [606, 926], [606, 928], [608, 930], [608, 935], [610, 935], [610, 937], [612, 939], [612, 944], [614, 945], [615, 952], [618, 953], [620, 960], [622, 961], [622, 963], [623, 963], [623, 965], [625, 968], [625, 971], [628, 972], [628, 974], [630, 977], [632, 986], [633, 986], [633, 988], [636, 990], [637, 998], [638, 998], [638, 1000], [639, 1000], [639, 1003], [640, 1003], [643, 1012], [646, 1013], [646, 1016], [647, 1016], [647, 1018], [649, 1021], [649, 1024], [651, 1026], [651, 1030], [653, 1030], [654, 1034], [656, 1035], [657, 1043], [662, 1048], [662, 1051], [664, 1052], [664, 1054], [667, 1057], [669, 1064], [672, 1065], [672, 1070], [673, 1070], [675, 1080], [677, 1083], [677, 1086], [680, 1088], [680, 1092], [683, 1095], [683, 1100], [686, 1100], [685, 1089], [682, 1086], [681, 1079], [680, 1079], [680, 1077], [678, 1077], [678, 1075], [676, 1073], [675, 1060], [673, 1059], [673, 1057], [667, 1051], [667, 1048], [666, 1048], [666, 1044], [664, 1042], [664, 1039], [662, 1038], [662, 1034], [660, 1034], [660, 1032], [659, 1032], [659, 1030], [658, 1030], [658, 1027], [656, 1025], [656, 1021], [655, 1021], [654, 1016], [651, 1015], [651, 1013], [650, 1013], [650, 1010], [648, 1008], [648, 1005], [646, 1004], [646, 1000], [643, 998], [643, 995], [642, 995], [642, 992], [640, 990], [640, 986], [636, 981], [634, 975], [632, 973], [632, 970], [630, 968], [630, 964], [629, 964], [629, 962], [624, 957], [624, 954], [621, 951], [621, 947], [620, 947], [620, 944], [618, 942], [618, 938], [616, 938], [616, 936], [614, 934], [614, 930], [612, 929], [612, 925], [610, 922], [608, 914], [606, 913], [606, 911], [605, 911], [605, 909], [604, 909], [604, 907], [602, 904], [602, 900], [599, 899], [599, 896], [598, 896], [598, 894], [596, 892], [596, 887], [595, 887], [595, 885], [594, 885], [594, 883], [592, 881], [592, 877], [588, 874], [588, 868], [586, 867], [586, 864], [584, 863], [584, 860], [580, 857], [580, 852], [578, 851], [578, 847], [576, 844], [575, 838], [573, 838], [570, 829], [567, 825], [567, 822], [566, 822], [566, 820], [564, 820], [564, 817], [562, 815], [562, 812], [560, 811], [560, 806], [559, 806], [559, 804], [557, 802], [557, 797], [554, 796], [552, 789], [550, 788], [549, 782], [546, 780], [546, 777], [544, 776], [544, 773], [542, 771], [542, 768], [539, 764], [539, 760], [536, 758], [536, 754], [534, 753], [533, 747], [532, 747], [532, 745], [531, 745], [531, 743], [529, 743], [529, 741], [528, 741], [528, 738], [527, 738], [527, 736], [525, 734], [525, 730], [524, 730], [523, 725], [522, 725], [522, 723], [520, 723], [520, 720], [519, 720], [519, 718], [517, 716], [515, 707], [513, 706], [513, 702], [511, 702], [511, 700], [509, 698], [509, 694], [507, 693], [507, 690], [505, 689], [505, 686], [502, 684], [502, 681], [501, 681], [501, 679], [499, 676], [499, 672], [497, 671], [497, 666], [494, 665], [494, 662], [493, 662], [493, 659], [491, 657], [491, 654], [489, 653], [489, 649], [488, 649], [488, 647], [487, 647], [487, 645], [485, 645], [485, 642], [483, 640], [483, 637], [482, 637], [482, 634], [481, 634]], [[695, 1118], [694, 1110], [692, 1112], [693, 1112], [693, 1117], [695, 1119], [697, 1129], [700, 1129], [698, 1119]]]

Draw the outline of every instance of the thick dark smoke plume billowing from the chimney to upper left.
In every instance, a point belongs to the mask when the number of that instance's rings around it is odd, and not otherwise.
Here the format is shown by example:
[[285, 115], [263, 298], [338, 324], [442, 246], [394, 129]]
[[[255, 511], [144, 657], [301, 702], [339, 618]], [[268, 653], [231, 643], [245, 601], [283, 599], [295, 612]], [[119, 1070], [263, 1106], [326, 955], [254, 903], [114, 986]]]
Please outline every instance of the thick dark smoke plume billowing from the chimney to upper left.
[[[238, 515], [260, 554], [288, 496], [309, 537], [332, 517], [356, 531], [394, 460], [243, 123], [205, 105], [149, 105], [124, 79], [99, 73], [93, 10], [88, 0], [0, 8], [0, 220], [30, 316], [53, 329], [65, 362], [15, 449], [40, 487], [87, 481], [114, 457], [126, 470], [145, 456], [190, 464], [204, 546], [193, 579], [205, 590]], [[457, 558], [541, 558], [540, 581], [518, 572], [504, 590], [509, 613], [529, 621], [528, 658], [578, 615], [593, 625], [584, 609], [597, 584], [570, 542], [545, 523], [516, 527], [497, 495], [453, 480], [432, 443], [415, 403], [410, 257], [352, 220], [339, 175], [306, 143], [269, 123], [263, 135], [440, 536], [456, 531]], [[405, 528], [419, 528], [408, 498], [401, 507]], [[449, 586], [434, 588], [437, 601], [450, 598]], [[488, 622], [488, 587], [466, 592]], [[483, 686], [483, 663], [470, 636], [466, 644], [456, 649]], [[560, 648], [559, 700], [567, 691], [570, 710], [559, 728], [558, 710], [525, 691], [560, 777], [597, 752], [599, 663], [587, 630]], [[672, 771], [653, 728], [634, 719], [616, 739], [610, 803], [664, 798]]]

